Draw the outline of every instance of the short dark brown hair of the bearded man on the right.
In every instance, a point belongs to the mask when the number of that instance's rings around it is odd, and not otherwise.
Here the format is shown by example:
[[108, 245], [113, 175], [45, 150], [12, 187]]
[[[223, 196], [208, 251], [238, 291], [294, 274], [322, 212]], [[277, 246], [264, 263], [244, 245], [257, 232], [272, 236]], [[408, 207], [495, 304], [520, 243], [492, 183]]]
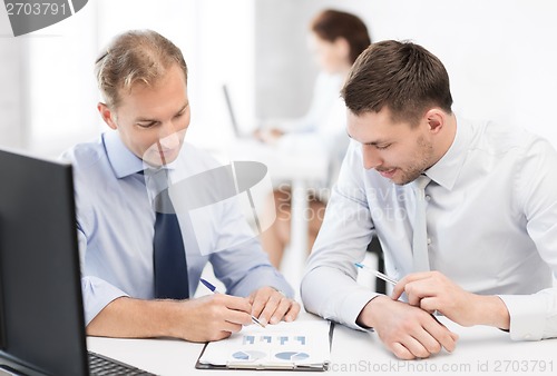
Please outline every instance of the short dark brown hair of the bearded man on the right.
[[354, 62], [342, 97], [356, 116], [387, 107], [394, 121], [411, 125], [432, 107], [452, 112], [447, 70], [436, 56], [412, 42], [371, 44]]

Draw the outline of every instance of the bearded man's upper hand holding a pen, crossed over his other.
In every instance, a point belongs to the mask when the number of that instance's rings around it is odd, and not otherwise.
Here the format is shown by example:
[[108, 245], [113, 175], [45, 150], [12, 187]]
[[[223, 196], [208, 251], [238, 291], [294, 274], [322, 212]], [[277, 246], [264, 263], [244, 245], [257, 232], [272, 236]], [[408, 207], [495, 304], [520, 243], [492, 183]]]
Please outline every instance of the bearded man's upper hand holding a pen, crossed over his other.
[[407, 293], [408, 303], [429, 313], [438, 310], [462, 326], [491, 325], [508, 329], [507, 307], [497, 296], [480, 296], [463, 290], [439, 271], [414, 273], [394, 286], [392, 298]]

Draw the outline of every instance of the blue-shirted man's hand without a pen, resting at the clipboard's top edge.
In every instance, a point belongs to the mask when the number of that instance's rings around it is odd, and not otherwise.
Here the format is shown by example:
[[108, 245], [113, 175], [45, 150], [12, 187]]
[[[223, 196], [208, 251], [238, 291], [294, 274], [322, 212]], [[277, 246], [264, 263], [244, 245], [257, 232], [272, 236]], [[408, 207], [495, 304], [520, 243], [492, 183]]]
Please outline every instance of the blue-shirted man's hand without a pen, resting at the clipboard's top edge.
[[284, 294], [273, 287], [262, 287], [250, 295], [252, 315], [257, 317], [261, 324], [277, 324], [283, 318], [293, 321], [300, 313], [300, 304], [289, 299]]

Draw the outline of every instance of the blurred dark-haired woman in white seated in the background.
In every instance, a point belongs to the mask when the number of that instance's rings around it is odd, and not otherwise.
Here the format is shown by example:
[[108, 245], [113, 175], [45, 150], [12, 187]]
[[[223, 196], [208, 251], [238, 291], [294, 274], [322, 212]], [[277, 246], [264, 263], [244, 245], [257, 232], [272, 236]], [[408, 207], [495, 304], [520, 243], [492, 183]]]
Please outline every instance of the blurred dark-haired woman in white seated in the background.
[[[354, 14], [323, 10], [310, 23], [310, 48], [315, 55], [320, 73], [306, 115], [278, 128], [260, 131], [256, 136], [265, 142], [281, 142], [286, 147], [314, 148], [329, 159], [329, 175], [315, 188], [319, 195], [310, 196], [309, 249], [312, 248], [323, 220], [329, 189], [344, 157], [349, 138], [344, 101], [340, 90], [358, 56], [371, 44], [368, 28]], [[319, 150], [320, 149], [320, 150]], [[325, 189], [322, 189], [325, 188]], [[262, 235], [263, 248], [271, 263], [280, 267], [284, 248], [290, 243], [291, 190], [281, 185], [274, 190], [276, 220]]]

